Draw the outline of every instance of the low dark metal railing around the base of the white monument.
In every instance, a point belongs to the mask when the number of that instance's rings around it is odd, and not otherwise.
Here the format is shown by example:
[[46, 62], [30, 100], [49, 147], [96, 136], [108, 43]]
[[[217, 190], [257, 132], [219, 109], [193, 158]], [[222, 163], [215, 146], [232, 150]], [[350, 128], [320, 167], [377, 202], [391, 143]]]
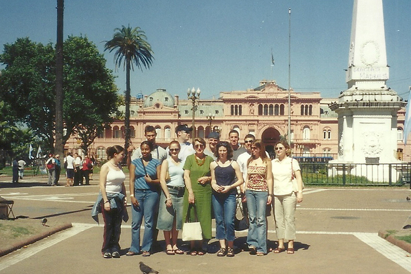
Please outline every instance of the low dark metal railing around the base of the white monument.
[[300, 162], [305, 185], [402, 186], [409, 184], [411, 163]]

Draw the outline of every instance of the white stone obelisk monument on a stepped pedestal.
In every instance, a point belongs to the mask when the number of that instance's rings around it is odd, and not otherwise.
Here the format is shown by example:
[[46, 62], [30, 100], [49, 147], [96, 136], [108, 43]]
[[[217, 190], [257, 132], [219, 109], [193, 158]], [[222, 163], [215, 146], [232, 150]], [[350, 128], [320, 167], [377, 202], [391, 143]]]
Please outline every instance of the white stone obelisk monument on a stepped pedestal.
[[[375, 164], [399, 163], [397, 112], [405, 102], [387, 87], [388, 78], [382, 0], [354, 0], [348, 88], [330, 105], [338, 114], [339, 134], [339, 159], [330, 163], [346, 163], [351, 175], [373, 181], [388, 181], [389, 174], [396, 179], [395, 170]], [[329, 173], [340, 174], [341, 168]]]

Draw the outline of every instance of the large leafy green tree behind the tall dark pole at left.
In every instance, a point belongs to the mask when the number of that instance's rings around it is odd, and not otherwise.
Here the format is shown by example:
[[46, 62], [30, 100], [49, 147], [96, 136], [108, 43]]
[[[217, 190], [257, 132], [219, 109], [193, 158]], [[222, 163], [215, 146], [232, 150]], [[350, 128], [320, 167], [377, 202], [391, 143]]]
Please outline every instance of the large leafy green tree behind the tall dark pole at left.
[[[80, 125], [111, 122], [117, 112], [117, 88], [111, 70], [96, 45], [83, 36], [64, 42], [63, 120], [67, 130], [63, 145]], [[0, 100], [6, 101], [25, 123], [53, 150], [55, 133], [55, 49], [20, 38], [4, 45], [0, 62]]]

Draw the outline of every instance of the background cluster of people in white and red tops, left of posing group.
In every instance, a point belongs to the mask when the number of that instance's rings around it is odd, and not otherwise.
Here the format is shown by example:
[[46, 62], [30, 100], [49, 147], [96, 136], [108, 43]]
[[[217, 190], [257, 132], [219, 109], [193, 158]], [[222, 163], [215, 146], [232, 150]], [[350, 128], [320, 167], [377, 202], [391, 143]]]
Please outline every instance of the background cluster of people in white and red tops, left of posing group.
[[81, 186], [84, 179], [84, 185], [90, 185], [90, 176], [93, 174], [95, 163], [94, 157], [90, 158], [88, 155], [84, 155], [83, 160], [78, 153], [74, 153], [73, 157], [71, 152], [68, 152], [64, 158], [64, 168], [67, 176], [66, 187]]

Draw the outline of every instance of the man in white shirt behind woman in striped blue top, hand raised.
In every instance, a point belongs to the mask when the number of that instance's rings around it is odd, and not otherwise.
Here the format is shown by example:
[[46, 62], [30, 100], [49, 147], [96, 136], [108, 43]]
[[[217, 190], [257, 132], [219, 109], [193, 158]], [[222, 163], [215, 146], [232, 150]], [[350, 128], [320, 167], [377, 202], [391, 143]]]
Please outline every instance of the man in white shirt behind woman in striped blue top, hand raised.
[[[147, 125], [144, 129], [144, 136], [147, 139], [147, 141], [151, 142], [153, 144], [153, 151], [151, 152], [151, 156], [154, 159], [157, 159], [160, 163], [163, 162], [167, 158], [167, 152], [165, 149], [160, 147], [158, 144], [156, 144], [156, 137], [157, 137], [157, 132], [154, 126], [152, 125]], [[133, 145], [130, 145], [127, 149], [127, 167], [130, 168], [130, 165], [134, 159], [141, 158], [141, 149], [137, 148], [132, 155], [134, 147]]]

